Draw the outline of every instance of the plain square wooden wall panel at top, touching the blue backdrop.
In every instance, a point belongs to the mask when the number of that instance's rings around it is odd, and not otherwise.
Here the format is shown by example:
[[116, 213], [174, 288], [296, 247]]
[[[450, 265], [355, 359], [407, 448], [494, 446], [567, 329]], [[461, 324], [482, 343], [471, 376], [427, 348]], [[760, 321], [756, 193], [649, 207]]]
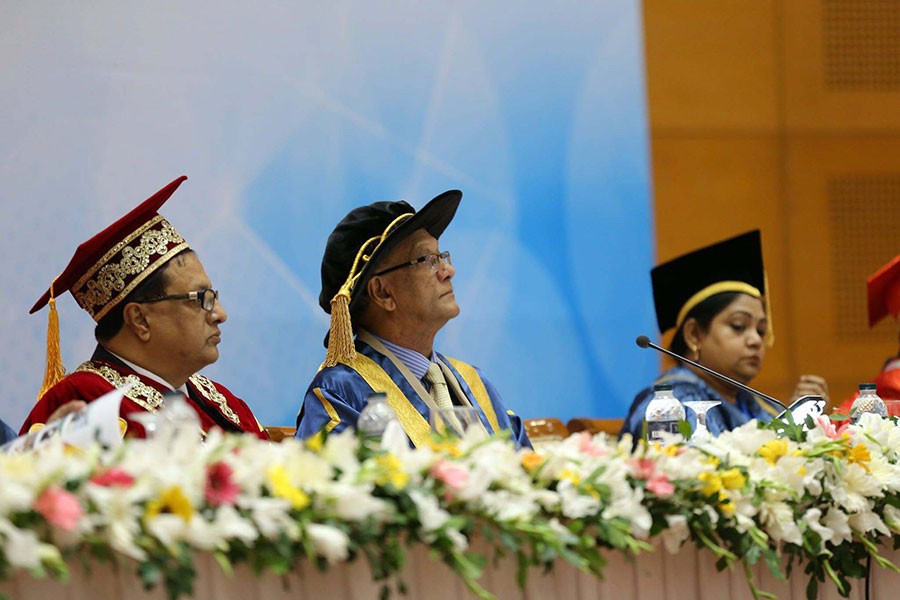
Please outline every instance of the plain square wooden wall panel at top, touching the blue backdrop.
[[773, 0], [647, 0], [654, 131], [772, 131], [777, 122]]

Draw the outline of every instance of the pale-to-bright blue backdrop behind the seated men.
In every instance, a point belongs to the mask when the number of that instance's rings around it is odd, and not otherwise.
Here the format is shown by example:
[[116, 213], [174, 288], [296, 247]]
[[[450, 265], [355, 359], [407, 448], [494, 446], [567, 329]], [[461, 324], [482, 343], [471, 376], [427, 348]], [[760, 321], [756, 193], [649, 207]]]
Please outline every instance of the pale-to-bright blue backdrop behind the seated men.
[[[8, 422], [43, 373], [46, 311], [28, 308], [182, 173], [161, 212], [229, 312], [206, 373], [265, 424], [293, 424], [324, 356], [334, 224], [449, 188], [462, 314], [441, 351], [526, 417], [622, 415], [653, 376], [633, 342], [653, 330], [638, 0], [38, 4], [0, 19]], [[69, 295], [60, 312], [73, 369], [93, 322]]]

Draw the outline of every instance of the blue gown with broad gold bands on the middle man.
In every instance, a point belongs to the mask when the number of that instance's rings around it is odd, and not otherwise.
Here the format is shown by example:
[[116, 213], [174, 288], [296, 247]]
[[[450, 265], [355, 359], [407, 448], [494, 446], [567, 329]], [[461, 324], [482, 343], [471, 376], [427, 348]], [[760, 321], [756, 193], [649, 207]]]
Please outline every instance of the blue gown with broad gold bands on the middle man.
[[[296, 437], [305, 439], [322, 430], [339, 432], [355, 427], [369, 396], [377, 391], [387, 394], [404, 431], [418, 446], [431, 430], [428, 405], [387, 356], [360, 340], [356, 340], [356, 352], [351, 364], [339, 363], [316, 373], [297, 415]], [[517, 446], [531, 446], [522, 420], [503, 406], [499, 392], [480, 369], [437, 356], [456, 377], [472, 406], [478, 408], [489, 432], [510, 430]]]

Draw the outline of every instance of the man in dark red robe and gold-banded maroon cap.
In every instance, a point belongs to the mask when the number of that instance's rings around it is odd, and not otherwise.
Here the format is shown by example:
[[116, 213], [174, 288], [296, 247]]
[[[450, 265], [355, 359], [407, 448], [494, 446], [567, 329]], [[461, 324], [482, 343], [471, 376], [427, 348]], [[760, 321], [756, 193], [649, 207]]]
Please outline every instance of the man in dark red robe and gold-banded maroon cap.
[[[120, 416], [126, 435], [143, 437], [132, 417], [155, 412], [182, 393], [204, 432], [219, 427], [268, 439], [243, 400], [197, 373], [219, 358], [227, 315], [203, 265], [172, 225], [157, 214], [187, 177], [179, 177], [84, 242], [31, 312], [50, 305], [47, 374], [26, 433], [71, 400], [91, 402], [131, 384]], [[96, 321], [91, 359], [63, 377], [55, 296], [70, 292]]]

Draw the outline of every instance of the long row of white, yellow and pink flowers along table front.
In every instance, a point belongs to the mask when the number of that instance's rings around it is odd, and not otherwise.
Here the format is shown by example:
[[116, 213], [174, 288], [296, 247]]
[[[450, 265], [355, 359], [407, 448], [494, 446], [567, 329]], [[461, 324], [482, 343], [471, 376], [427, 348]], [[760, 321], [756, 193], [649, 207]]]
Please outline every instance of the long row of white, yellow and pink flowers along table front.
[[[807, 593], [833, 582], [846, 596], [867, 561], [900, 547], [900, 427], [864, 415], [835, 429], [778, 434], [751, 422], [718, 438], [666, 446], [576, 434], [516, 450], [477, 431], [412, 449], [393, 424], [380, 442], [352, 432], [270, 444], [212, 432], [127, 440], [122, 447], [0, 456], [0, 580], [17, 569], [67, 576], [75, 553], [131, 562], [148, 588], [192, 592], [195, 552], [229, 572], [239, 562], [283, 574], [366, 557], [384, 595], [403, 592], [405, 548], [428, 544], [481, 598], [488, 561], [565, 560], [602, 576], [603, 554], [670, 552], [693, 542], [722, 569], [778, 577], [804, 566]], [[124, 557], [124, 558], [123, 558]]]

